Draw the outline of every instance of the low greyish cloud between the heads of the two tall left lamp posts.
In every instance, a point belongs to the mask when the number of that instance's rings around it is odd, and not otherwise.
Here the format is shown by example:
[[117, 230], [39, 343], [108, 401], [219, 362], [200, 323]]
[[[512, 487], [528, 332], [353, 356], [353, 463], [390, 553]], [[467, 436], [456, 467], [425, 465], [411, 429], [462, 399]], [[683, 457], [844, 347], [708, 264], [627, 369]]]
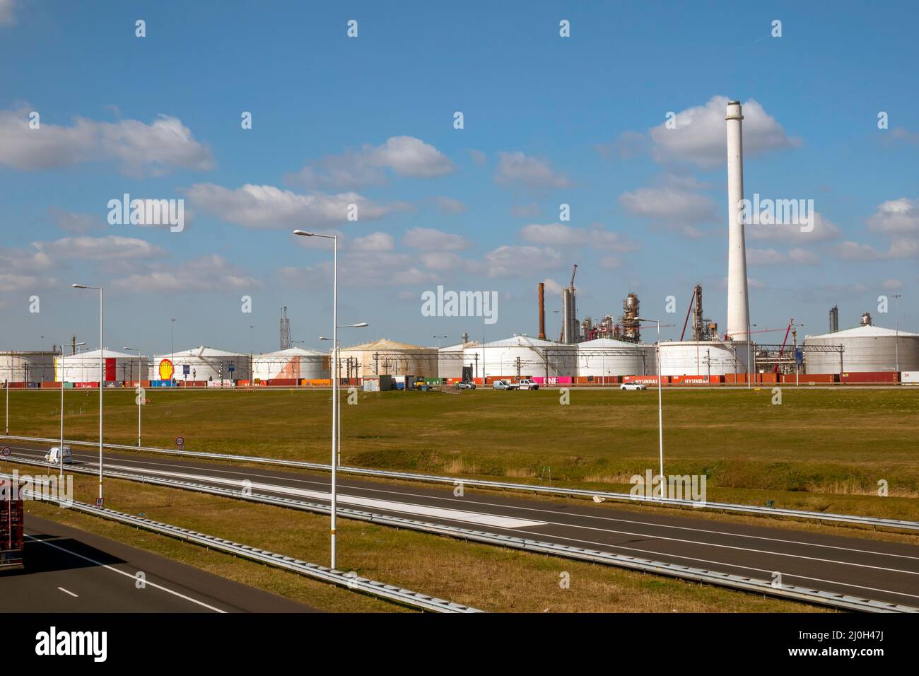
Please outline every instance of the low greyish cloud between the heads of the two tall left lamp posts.
[[172, 267], [157, 266], [148, 272], [117, 280], [116, 288], [130, 292], [228, 292], [261, 288], [262, 282], [217, 254], [202, 256]]

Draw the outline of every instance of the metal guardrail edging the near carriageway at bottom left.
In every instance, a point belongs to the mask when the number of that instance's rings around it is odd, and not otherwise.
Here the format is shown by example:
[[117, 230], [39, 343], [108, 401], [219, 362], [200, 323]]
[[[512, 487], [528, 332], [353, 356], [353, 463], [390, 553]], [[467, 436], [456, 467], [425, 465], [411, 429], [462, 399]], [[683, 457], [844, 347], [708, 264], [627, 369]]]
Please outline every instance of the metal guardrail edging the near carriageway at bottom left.
[[[6, 479], [12, 478], [10, 475], [0, 474], [0, 476]], [[346, 587], [349, 590], [361, 591], [370, 596], [376, 596], [381, 599], [386, 599], [387, 601], [397, 602], [420, 610], [434, 613], [482, 613], [480, 610], [462, 605], [461, 603], [445, 601], [444, 599], [428, 596], [419, 591], [406, 590], [375, 579], [361, 578], [355, 573], [343, 573], [340, 570], [333, 570], [332, 568], [320, 566], [318, 564], [301, 561], [299, 558], [276, 554], [274, 552], [269, 552], [267, 549], [258, 549], [257, 547], [236, 543], [232, 540], [224, 540], [213, 535], [208, 535], [207, 533], [190, 531], [187, 528], [163, 523], [162, 521], [143, 519], [142, 517], [132, 516], [121, 511], [95, 507], [85, 502], [77, 502], [75, 500], [65, 503], [61, 499], [49, 498], [48, 496], [44, 496], [30, 489], [23, 490], [22, 493], [24, 498], [31, 497], [34, 499], [56, 502], [62, 507], [66, 507], [66, 509], [82, 511], [86, 514], [108, 519], [109, 521], [118, 521], [119, 523], [125, 523], [144, 531], [167, 535], [176, 538], [176, 540], [182, 540], [183, 542], [201, 544], [209, 549], [223, 552], [224, 554], [239, 556], [240, 558], [267, 564], [272, 567], [283, 568], [307, 578], [331, 582], [338, 587]]]

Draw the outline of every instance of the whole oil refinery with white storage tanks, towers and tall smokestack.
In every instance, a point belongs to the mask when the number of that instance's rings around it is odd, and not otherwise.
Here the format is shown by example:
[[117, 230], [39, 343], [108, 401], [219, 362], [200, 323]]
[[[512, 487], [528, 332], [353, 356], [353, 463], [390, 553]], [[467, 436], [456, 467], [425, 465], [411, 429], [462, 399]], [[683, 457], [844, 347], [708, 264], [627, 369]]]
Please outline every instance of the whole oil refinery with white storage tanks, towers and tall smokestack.
[[[389, 338], [345, 346], [339, 350], [337, 372], [348, 382], [398, 376], [403, 386], [412, 378], [430, 384], [531, 378], [541, 384], [616, 384], [620, 379], [662, 384], [811, 384], [915, 382], [919, 372], [919, 334], [876, 327], [861, 315], [857, 327], [839, 330], [839, 308], [829, 313], [830, 330], [799, 341], [789, 320], [781, 343], [766, 343], [750, 320], [746, 246], [742, 219], [743, 109], [728, 103], [727, 132], [728, 269], [725, 330], [705, 315], [702, 285], [690, 294], [679, 340], [642, 341], [653, 324], [642, 321], [641, 301], [634, 292], [622, 299], [621, 314], [578, 318], [575, 277], [562, 289], [562, 327], [557, 341], [546, 338], [545, 285], [539, 282], [539, 329], [482, 343], [464, 335], [447, 347], [412, 345]], [[276, 352], [255, 355], [207, 346], [153, 357], [111, 349], [71, 354], [42, 351], [0, 353], [6, 386], [64, 383], [97, 386], [145, 382], [151, 386], [275, 385], [328, 386], [331, 350], [293, 348], [287, 307], [281, 308]], [[62, 351], [62, 350], [61, 350]], [[905, 375], [901, 375], [905, 374]], [[666, 379], [666, 380], [664, 380]]]

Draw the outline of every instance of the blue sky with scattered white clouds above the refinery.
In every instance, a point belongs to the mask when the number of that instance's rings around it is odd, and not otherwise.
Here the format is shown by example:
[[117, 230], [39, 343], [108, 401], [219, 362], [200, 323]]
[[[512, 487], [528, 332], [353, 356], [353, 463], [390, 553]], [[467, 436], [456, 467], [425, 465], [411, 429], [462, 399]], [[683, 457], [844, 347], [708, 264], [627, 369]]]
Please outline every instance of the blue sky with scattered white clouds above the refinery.
[[[633, 291], [682, 327], [699, 282], [723, 327], [721, 97], [744, 104], [746, 196], [818, 213], [811, 234], [748, 229], [757, 327], [823, 333], [837, 303], [843, 327], [892, 327], [878, 297], [899, 293], [919, 330], [910, 4], [385, 5], [0, 0], [0, 349], [95, 347], [74, 281], [105, 284], [110, 348], [167, 351], [175, 317], [176, 349], [246, 350], [249, 325], [277, 349], [280, 305], [320, 345], [331, 252], [296, 227], [341, 235], [340, 316], [371, 325], [346, 343], [481, 336], [421, 314], [438, 284], [498, 292], [505, 338], [537, 332], [547, 281], [557, 335], [573, 263], [582, 318]], [[185, 200], [185, 229], [109, 224], [123, 193]]]

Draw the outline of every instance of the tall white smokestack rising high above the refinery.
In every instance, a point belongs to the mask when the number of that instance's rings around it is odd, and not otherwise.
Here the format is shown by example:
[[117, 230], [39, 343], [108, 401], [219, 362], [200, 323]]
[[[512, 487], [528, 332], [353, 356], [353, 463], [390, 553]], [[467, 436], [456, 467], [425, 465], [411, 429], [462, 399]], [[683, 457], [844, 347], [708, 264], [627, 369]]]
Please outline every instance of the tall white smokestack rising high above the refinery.
[[746, 245], [743, 241], [743, 112], [740, 101], [728, 103], [728, 336], [749, 340]]

